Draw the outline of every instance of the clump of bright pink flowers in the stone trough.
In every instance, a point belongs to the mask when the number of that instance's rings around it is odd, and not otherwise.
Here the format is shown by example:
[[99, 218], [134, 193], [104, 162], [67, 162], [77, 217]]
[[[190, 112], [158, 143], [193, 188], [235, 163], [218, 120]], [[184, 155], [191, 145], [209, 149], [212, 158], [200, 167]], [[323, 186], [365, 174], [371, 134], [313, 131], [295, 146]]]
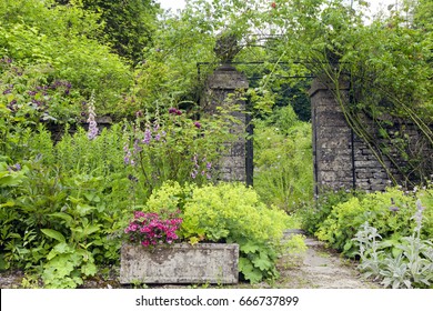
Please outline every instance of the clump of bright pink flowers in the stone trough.
[[179, 239], [177, 231], [182, 223], [182, 219], [175, 218], [175, 214], [135, 211], [134, 218], [124, 230], [124, 233], [127, 233], [129, 242], [139, 243], [143, 247], [172, 244]]

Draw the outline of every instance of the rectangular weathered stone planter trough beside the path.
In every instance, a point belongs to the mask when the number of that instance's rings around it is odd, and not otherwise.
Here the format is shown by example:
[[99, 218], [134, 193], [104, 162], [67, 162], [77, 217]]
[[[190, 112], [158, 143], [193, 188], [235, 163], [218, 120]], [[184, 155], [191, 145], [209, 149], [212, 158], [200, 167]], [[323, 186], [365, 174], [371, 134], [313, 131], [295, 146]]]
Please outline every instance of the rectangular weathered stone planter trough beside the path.
[[238, 244], [123, 244], [120, 283], [238, 283]]

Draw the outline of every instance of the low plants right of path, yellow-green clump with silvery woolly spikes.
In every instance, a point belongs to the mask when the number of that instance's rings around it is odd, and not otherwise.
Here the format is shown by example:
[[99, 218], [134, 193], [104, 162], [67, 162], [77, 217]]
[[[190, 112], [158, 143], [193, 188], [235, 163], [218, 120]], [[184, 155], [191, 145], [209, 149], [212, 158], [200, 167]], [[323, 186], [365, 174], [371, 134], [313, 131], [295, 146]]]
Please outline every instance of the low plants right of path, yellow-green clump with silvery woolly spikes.
[[432, 287], [432, 188], [330, 192], [302, 214], [328, 245], [360, 260], [365, 278], [392, 288]]

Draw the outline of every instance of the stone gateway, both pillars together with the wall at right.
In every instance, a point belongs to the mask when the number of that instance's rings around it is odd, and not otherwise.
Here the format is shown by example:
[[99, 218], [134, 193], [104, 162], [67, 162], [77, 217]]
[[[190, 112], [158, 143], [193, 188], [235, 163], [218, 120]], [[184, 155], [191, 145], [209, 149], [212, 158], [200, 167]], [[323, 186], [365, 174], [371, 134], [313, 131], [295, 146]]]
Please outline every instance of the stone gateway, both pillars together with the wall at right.
[[[215, 107], [223, 104], [224, 100], [233, 100], [232, 96], [239, 96], [239, 91], [245, 91], [249, 87], [248, 78], [235, 70], [233, 66], [223, 64], [218, 68], [207, 81], [205, 110], [214, 111]], [[313, 159], [314, 159], [314, 193], [322, 190], [358, 189], [365, 191], [383, 191], [394, 183], [411, 184], [420, 182], [419, 174], [412, 174], [412, 179], [405, 177], [400, 167], [405, 167], [409, 159], [404, 159], [397, 150], [390, 152], [396, 160], [380, 156], [371, 146], [359, 138], [349, 126], [341, 104], [335, 99], [333, 86], [326, 84], [315, 78], [312, 81], [309, 96], [311, 100], [312, 127], [313, 127]], [[338, 90], [340, 96], [350, 100], [350, 86], [342, 83]], [[238, 93], [238, 94], [236, 94]], [[241, 110], [233, 116], [241, 120], [240, 124], [231, 130], [239, 136], [228, 154], [224, 154], [220, 170], [224, 181], [242, 181], [252, 184], [253, 180], [253, 144], [248, 134], [252, 134], [252, 126], [249, 123], [248, 103], [245, 100], [236, 100]], [[367, 116], [363, 121], [376, 139], [376, 146], [383, 144], [385, 139], [379, 137], [379, 129]], [[405, 149], [420, 149], [424, 157], [421, 170], [423, 175], [433, 173], [433, 149], [421, 134], [414, 123], [403, 119], [393, 119], [387, 130], [394, 136], [406, 139]], [[396, 149], [396, 148], [395, 148]], [[377, 158], [379, 157], [379, 158]], [[392, 174], [392, 177], [390, 175]]]

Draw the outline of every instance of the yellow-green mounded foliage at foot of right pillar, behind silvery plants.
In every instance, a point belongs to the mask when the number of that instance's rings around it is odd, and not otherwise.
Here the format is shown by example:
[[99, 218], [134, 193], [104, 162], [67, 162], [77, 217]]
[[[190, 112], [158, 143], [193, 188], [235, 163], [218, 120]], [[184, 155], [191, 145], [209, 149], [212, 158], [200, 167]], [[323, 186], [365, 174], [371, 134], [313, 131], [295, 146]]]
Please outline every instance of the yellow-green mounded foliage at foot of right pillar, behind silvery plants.
[[344, 254], [353, 257], [356, 248], [352, 239], [358, 228], [365, 221], [376, 228], [384, 239], [395, 241], [401, 237], [410, 235], [414, 229], [411, 218], [415, 212], [416, 198], [422, 198], [426, 205], [424, 213], [426, 225], [421, 232], [422, 237], [431, 239], [433, 235], [430, 225], [433, 217], [431, 189], [420, 191], [416, 197], [414, 193], [406, 194], [399, 189], [365, 194], [362, 198], [353, 197], [344, 203], [332, 207], [315, 234]]

